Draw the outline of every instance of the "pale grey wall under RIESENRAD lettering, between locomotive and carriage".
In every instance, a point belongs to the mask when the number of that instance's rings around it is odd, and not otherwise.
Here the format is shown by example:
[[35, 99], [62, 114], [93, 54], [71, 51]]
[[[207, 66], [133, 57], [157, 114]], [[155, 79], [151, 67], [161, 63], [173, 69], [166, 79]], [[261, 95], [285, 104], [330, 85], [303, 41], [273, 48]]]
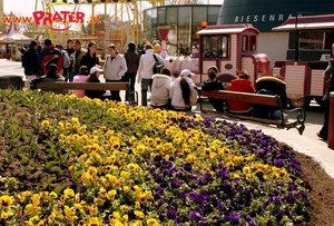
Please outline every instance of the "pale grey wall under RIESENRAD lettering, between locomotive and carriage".
[[272, 66], [276, 60], [286, 60], [288, 32], [263, 32], [257, 38], [257, 52], [266, 53]]

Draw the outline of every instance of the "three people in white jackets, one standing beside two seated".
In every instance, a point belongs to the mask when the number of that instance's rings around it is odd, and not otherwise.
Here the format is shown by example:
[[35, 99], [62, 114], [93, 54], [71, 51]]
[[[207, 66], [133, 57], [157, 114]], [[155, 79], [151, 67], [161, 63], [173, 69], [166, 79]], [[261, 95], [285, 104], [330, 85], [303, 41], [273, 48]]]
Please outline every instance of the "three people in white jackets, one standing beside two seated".
[[196, 85], [191, 79], [194, 73], [184, 69], [177, 78], [174, 78], [166, 67], [161, 67], [158, 73], [154, 73], [153, 68], [156, 61], [166, 65], [164, 58], [155, 55], [153, 45], [146, 43], [136, 75], [137, 82], [141, 85], [141, 106], [148, 106], [147, 92], [150, 90], [150, 107], [153, 108], [191, 110], [191, 106], [197, 102]]

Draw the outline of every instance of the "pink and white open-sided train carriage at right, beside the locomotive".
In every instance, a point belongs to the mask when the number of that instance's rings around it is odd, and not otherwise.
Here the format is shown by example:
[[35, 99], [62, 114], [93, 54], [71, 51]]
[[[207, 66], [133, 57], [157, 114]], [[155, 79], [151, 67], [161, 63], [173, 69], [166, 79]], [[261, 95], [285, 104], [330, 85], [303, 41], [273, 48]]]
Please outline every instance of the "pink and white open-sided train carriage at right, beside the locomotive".
[[[286, 61], [276, 61], [273, 67], [273, 73], [279, 73], [285, 78], [287, 83], [286, 91], [291, 104], [296, 107], [308, 107], [312, 99], [322, 105], [322, 99], [327, 89], [327, 83], [324, 81], [323, 72], [330, 59], [328, 55], [323, 55], [318, 61], [301, 61], [299, 41], [301, 31], [331, 31], [334, 29], [334, 14], [291, 17], [283, 24], [273, 28], [273, 31], [291, 31], [296, 33], [295, 40], [295, 59]], [[304, 43], [321, 46], [332, 46], [333, 36], [324, 37], [322, 43], [315, 43], [315, 39], [310, 38]], [[330, 49], [330, 48], [328, 48]], [[310, 49], [311, 53], [312, 49]]]

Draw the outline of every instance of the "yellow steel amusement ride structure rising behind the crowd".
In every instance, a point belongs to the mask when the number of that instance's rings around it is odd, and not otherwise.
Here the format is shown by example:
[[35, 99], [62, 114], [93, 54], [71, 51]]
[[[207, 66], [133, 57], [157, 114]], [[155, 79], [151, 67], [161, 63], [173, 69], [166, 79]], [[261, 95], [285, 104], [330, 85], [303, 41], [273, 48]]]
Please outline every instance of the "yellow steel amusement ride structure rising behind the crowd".
[[[36, 6], [41, 3], [45, 13], [51, 14], [52, 24], [37, 26], [36, 32], [43, 31], [48, 37], [58, 42], [68, 38], [82, 40], [98, 40], [107, 47], [114, 43], [120, 51], [126, 50], [127, 45], [132, 41], [141, 43], [143, 41], [143, 11], [145, 9], [163, 6], [164, 0], [36, 0]], [[75, 17], [84, 11], [89, 12], [85, 21], [78, 19], [70, 22], [69, 14], [61, 18], [60, 8], [68, 7]], [[60, 14], [60, 17], [59, 17]], [[63, 19], [63, 20], [62, 20]], [[67, 20], [66, 20], [67, 19]], [[90, 19], [95, 19], [92, 22]], [[68, 28], [68, 29], [67, 29]], [[63, 39], [63, 40], [60, 40]]]

